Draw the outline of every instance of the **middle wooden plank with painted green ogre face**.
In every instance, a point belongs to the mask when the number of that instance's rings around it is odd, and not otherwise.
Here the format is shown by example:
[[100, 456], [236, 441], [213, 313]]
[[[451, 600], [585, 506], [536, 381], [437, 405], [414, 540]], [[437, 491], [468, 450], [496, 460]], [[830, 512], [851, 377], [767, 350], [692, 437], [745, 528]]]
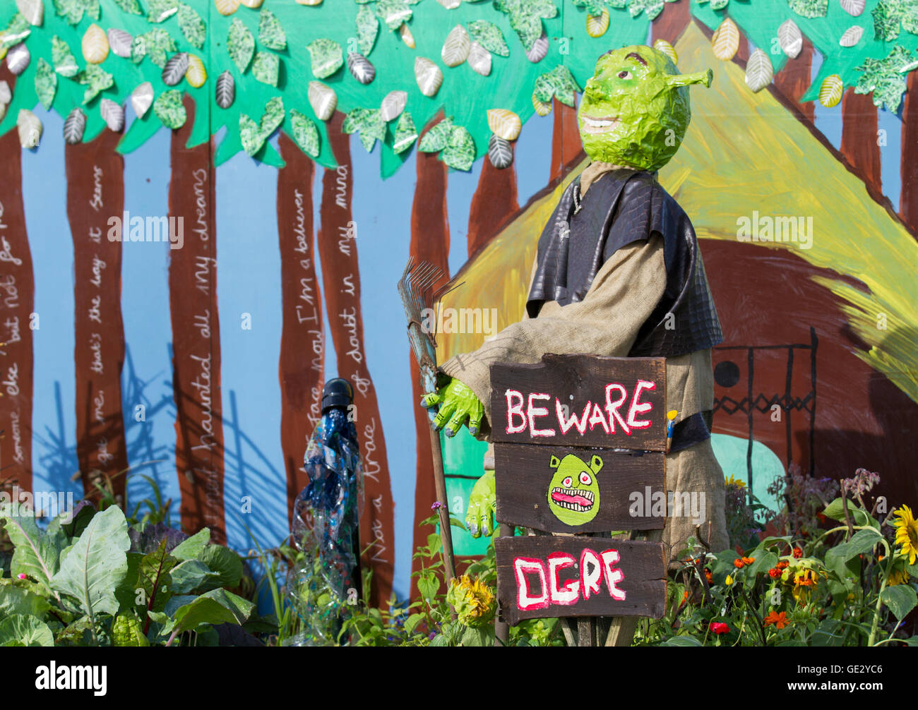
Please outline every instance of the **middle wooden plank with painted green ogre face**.
[[666, 523], [662, 451], [637, 456], [495, 444], [494, 460], [499, 521], [567, 533], [649, 530]]

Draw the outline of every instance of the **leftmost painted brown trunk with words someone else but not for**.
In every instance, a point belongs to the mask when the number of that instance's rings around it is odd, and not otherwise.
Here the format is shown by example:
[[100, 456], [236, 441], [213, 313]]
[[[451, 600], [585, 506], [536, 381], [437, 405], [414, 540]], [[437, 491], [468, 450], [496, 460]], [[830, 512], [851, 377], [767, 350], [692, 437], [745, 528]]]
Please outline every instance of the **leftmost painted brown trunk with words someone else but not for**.
[[[0, 68], [11, 87], [16, 77]], [[15, 87], [14, 87], [15, 89]], [[32, 321], [35, 277], [22, 201], [17, 131], [0, 137], [0, 481], [32, 490]], [[2, 488], [3, 486], [0, 486]]]

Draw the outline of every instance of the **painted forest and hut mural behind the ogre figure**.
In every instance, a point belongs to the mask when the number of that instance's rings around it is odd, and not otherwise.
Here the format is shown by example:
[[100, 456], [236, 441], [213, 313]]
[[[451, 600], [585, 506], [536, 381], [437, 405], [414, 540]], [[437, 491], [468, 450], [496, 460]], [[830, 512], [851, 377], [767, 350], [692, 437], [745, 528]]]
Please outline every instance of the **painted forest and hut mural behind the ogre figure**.
[[[0, 484], [132, 509], [154, 482], [175, 527], [274, 546], [341, 376], [372, 597], [407, 597], [435, 495], [397, 279], [413, 257], [453, 287], [444, 358], [518, 319], [586, 164], [578, 93], [602, 52], [656, 42], [714, 68], [660, 180], [724, 330], [724, 471], [767, 501], [790, 464], [866, 466], [913, 506], [918, 35], [889, 0], [848, 6], [2, 3]], [[443, 449], [464, 511], [486, 446]]]

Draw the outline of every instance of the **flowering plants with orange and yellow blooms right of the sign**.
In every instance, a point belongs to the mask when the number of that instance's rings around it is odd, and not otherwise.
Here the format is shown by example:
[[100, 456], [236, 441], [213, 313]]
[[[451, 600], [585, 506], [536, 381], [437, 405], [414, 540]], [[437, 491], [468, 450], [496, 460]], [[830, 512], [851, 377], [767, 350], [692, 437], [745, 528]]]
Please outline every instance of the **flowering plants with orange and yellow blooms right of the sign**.
[[[859, 469], [842, 482], [807, 481], [799, 469], [776, 490], [799, 505], [771, 522], [776, 536], [755, 544], [707, 551], [693, 538], [668, 585], [663, 619], [643, 619], [638, 645], [880, 646], [918, 645], [903, 630], [918, 605], [918, 565], [909, 552], [918, 524], [902, 506], [883, 519], [884, 500], [868, 501], [879, 476]], [[830, 485], [832, 483], [832, 485]], [[856, 502], [846, 498], [855, 494]], [[868, 505], [869, 503], [869, 505]], [[898, 519], [897, 519], [898, 518]], [[828, 529], [821, 520], [837, 521]], [[831, 522], [827, 522], [831, 525]], [[794, 527], [796, 526], [796, 527]], [[889, 538], [895, 538], [890, 543]]]

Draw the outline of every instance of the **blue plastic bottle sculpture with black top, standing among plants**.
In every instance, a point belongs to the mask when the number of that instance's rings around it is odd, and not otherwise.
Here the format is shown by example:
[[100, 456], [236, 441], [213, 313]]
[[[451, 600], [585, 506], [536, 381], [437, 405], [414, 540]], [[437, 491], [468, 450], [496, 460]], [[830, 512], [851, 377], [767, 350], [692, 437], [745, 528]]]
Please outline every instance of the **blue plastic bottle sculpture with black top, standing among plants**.
[[357, 430], [348, 416], [352, 402], [353, 389], [346, 380], [325, 383], [322, 417], [306, 448], [309, 483], [297, 495], [293, 522], [294, 544], [303, 560], [286, 581], [287, 598], [304, 628], [291, 639], [292, 646], [335, 644], [359, 594], [356, 546], [364, 473]]

